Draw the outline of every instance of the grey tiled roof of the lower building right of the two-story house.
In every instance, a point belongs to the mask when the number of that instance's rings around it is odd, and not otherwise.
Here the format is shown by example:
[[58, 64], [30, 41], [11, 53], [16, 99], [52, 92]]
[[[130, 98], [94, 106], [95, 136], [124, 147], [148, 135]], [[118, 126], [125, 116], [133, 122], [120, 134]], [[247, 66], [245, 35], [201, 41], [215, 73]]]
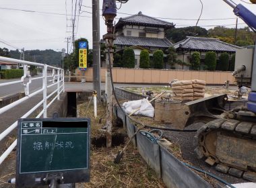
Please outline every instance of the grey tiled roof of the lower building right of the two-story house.
[[192, 36], [187, 36], [185, 40], [174, 44], [174, 48], [190, 48], [191, 50], [212, 50], [222, 52], [236, 52], [237, 49], [242, 49], [239, 46], [222, 42], [218, 40], [218, 38], [201, 38]]

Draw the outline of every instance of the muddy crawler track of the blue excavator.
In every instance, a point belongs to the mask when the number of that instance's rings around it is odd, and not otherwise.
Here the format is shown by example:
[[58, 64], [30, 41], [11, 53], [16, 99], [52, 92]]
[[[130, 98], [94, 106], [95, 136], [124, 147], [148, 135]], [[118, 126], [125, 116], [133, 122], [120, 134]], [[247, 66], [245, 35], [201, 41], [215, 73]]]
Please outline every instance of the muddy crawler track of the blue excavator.
[[195, 135], [198, 158], [216, 165], [216, 170], [256, 182], [256, 124], [216, 119]]

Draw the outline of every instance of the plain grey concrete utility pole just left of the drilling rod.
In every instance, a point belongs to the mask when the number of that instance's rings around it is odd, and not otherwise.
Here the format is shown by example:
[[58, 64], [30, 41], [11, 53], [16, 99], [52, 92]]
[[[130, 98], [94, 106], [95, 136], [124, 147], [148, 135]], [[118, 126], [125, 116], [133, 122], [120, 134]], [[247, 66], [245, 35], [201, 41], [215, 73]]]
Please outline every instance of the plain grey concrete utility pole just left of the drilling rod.
[[100, 7], [99, 0], [92, 0], [92, 54], [94, 91], [101, 98], [100, 81]]

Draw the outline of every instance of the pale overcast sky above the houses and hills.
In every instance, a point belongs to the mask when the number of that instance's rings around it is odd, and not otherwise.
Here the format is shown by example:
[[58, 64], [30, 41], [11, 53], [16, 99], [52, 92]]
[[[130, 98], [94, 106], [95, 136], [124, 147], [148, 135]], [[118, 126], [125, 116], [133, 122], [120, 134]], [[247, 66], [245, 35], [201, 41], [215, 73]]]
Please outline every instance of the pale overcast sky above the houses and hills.
[[[100, 0], [100, 9], [102, 8], [102, 1]], [[253, 13], [256, 13], [256, 5], [249, 5], [238, 0], [233, 1], [242, 3]], [[249, 0], [245, 1], [249, 2]], [[77, 0], [77, 4], [78, 2], [79, 0]], [[201, 19], [216, 20], [200, 20], [198, 26], [206, 29], [218, 25], [229, 25], [226, 26], [228, 28], [235, 27], [236, 16], [232, 12], [232, 8], [224, 1], [202, 0], [202, 2], [203, 13]], [[76, 18], [75, 32], [77, 31], [77, 34], [75, 37], [87, 38], [89, 46], [92, 48], [92, 14], [90, 13], [92, 12], [92, 0], [83, 0], [82, 5], [86, 7], [83, 6], [80, 11], [78, 24], [78, 17]], [[75, 0], [73, 0], [73, 9], [74, 7]], [[69, 20], [71, 19], [71, 9], [72, 0], [0, 0], [0, 48], [5, 47], [9, 50], [15, 50], [11, 47], [15, 46], [16, 48], [24, 47], [25, 50], [57, 50], [61, 48], [67, 50], [67, 39], [65, 38], [71, 36], [71, 28], [67, 27], [71, 26]], [[152, 17], [168, 18], [164, 20], [173, 22], [180, 28], [195, 26], [196, 19], [198, 19], [201, 11], [201, 3], [199, 0], [129, 0], [118, 10], [116, 22], [120, 17], [129, 16], [122, 13], [136, 14], [139, 11]], [[247, 25], [244, 24], [243, 20], [238, 19], [238, 27], [243, 28], [245, 26]], [[100, 36], [105, 33], [106, 26], [104, 20], [100, 17]], [[11, 44], [11, 46], [7, 46], [3, 42]]]

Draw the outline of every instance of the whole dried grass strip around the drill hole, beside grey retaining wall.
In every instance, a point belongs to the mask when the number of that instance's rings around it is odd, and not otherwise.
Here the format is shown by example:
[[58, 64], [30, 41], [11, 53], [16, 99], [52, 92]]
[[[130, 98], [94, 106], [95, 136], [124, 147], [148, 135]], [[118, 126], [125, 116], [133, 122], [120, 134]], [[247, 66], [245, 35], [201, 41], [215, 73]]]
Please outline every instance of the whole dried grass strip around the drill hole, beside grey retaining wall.
[[[91, 138], [106, 137], [101, 129], [106, 125], [106, 107], [98, 104], [98, 117], [94, 118], [94, 107], [89, 101], [77, 106], [79, 117], [91, 118]], [[88, 111], [86, 108], [88, 107]], [[101, 118], [101, 123], [99, 120]], [[113, 115], [113, 135], [124, 133], [123, 128], [115, 126]], [[119, 164], [113, 162], [116, 154], [124, 145], [113, 148], [91, 149], [91, 175], [90, 183], [77, 183], [76, 187], [165, 187], [164, 183], [156, 177], [155, 172], [149, 169], [133, 146], [129, 146], [123, 160]]]

